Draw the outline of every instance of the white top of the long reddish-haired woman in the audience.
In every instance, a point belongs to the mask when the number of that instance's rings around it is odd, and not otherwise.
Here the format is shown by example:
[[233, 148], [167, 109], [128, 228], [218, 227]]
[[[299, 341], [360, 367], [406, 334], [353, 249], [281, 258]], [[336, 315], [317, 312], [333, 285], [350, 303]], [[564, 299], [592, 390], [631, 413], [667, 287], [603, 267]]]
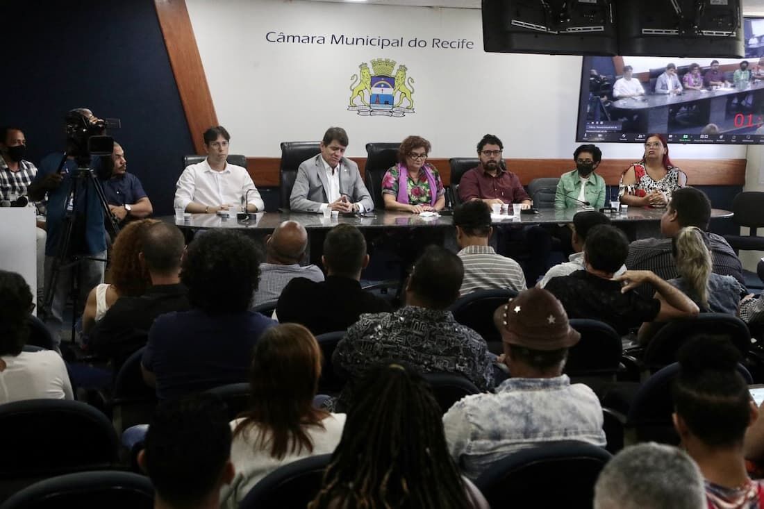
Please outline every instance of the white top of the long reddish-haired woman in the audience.
[[[240, 422], [241, 419], [232, 420], [231, 430], [235, 430]], [[313, 443], [312, 452], [303, 447], [297, 453], [287, 452], [282, 459], [270, 456], [269, 442], [266, 442], [264, 447], [258, 443], [260, 428], [257, 425], [236, 435], [233, 443], [231, 443], [231, 462], [236, 474], [231, 484], [224, 485], [220, 491], [220, 507], [236, 509], [252, 487], [257, 484], [257, 481], [280, 466], [309, 456], [334, 452], [339, 439], [342, 437], [345, 413], [332, 413], [322, 420], [322, 424], [324, 425], [323, 429], [319, 426], [307, 428], [308, 436]]]

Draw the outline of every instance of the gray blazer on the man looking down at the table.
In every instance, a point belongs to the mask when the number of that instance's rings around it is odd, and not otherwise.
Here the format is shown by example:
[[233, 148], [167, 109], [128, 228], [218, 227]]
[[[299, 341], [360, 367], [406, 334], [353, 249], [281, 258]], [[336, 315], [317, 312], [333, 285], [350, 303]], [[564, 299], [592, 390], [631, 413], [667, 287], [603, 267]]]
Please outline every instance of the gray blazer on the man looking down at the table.
[[[351, 202], [361, 202], [365, 209], [373, 210], [374, 200], [371, 199], [364, 181], [361, 180], [358, 164], [342, 157], [339, 168], [340, 194], [346, 194]], [[290, 209], [296, 212], [319, 212], [323, 203], [329, 203], [324, 190], [327, 187], [329, 182], [326, 180], [321, 154], [304, 160], [297, 168], [297, 177], [289, 199]]]

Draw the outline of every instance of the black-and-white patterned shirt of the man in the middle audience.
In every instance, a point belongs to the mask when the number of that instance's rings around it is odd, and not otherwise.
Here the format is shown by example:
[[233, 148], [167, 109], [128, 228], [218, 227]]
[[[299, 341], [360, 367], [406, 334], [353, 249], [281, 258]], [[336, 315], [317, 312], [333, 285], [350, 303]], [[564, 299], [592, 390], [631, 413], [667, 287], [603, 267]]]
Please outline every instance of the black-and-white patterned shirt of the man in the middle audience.
[[482, 391], [494, 387], [494, 366], [478, 332], [456, 323], [448, 310], [405, 306], [394, 313], [361, 315], [332, 355], [348, 383], [337, 407], [346, 408], [354, 385], [368, 368], [385, 360], [406, 361], [430, 373], [461, 374]]

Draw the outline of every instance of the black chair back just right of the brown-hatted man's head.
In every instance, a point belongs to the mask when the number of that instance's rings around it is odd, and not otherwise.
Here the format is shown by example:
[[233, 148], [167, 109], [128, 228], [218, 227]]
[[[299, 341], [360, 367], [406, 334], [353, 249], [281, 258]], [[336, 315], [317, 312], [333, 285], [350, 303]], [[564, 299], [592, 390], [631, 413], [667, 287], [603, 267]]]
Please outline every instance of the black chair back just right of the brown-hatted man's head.
[[615, 381], [623, 350], [615, 329], [598, 320], [581, 318], [571, 319], [570, 326], [581, 334], [581, 340], [568, 350], [565, 374], [584, 383]]

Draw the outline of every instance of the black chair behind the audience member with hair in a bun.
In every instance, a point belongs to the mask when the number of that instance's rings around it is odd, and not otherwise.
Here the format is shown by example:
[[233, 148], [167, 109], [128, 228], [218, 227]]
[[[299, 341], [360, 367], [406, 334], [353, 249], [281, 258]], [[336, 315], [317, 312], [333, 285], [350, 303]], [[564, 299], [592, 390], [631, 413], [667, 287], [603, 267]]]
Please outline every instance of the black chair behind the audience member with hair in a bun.
[[[625, 433], [631, 437], [630, 441], [678, 446], [679, 436], [672, 421], [672, 386], [679, 370], [678, 362], [665, 366], [639, 387], [626, 414]], [[746, 382], [753, 383], [751, 374], [743, 365], [737, 365], [737, 370]]]

